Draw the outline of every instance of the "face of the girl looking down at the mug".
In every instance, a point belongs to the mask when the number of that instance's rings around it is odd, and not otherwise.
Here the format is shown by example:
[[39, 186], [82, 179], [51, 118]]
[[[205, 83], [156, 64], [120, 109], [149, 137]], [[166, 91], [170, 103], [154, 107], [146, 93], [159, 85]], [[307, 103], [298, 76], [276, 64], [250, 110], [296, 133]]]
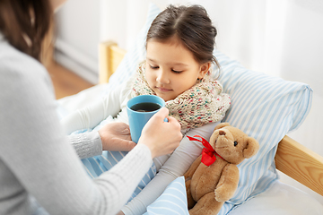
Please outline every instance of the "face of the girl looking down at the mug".
[[175, 99], [202, 79], [211, 63], [198, 64], [193, 54], [178, 39], [147, 42], [146, 80], [157, 96]]

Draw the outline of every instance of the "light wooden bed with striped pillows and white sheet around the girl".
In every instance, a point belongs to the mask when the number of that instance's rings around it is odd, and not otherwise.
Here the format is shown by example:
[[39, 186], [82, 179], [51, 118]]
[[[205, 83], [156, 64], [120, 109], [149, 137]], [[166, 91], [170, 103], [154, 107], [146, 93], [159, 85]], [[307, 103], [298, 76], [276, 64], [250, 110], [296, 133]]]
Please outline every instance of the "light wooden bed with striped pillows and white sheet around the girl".
[[[100, 84], [59, 99], [60, 117], [104, 97], [107, 91], [134, 73], [136, 64], [144, 59], [146, 31], [160, 12], [155, 7], [149, 10], [143, 30], [127, 52], [113, 41], [100, 43]], [[214, 50], [214, 56], [223, 69], [220, 82], [232, 99], [224, 121], [255, 137], [260, 144], [257, 158], [240, 165], [238, 190], [223, 205], [220, 214], [323, 214], [321, 203], [308, 193], [281, 183], [276, 173], [278, 169], [323, 196], [323, 158], [286, 135], [297, 129], [310, 111], [310, 86], [249, 71], [218, 50]], [[246, 95], [248, 93], [252, 96]], [[180, 190], [175, 195], [183, 195], [182, 184], [182, 178], [171, 183], [165, 195], [171, 193], [174, 186]], [[172, 214], [167, 210], [162, 212], [161, 208], [170, 208], [163, 204], [163, 197], [147, 208], [147, 214]], [[188, 214], [181, 211], [183, 207], [185, 205], [178, 206], [178, 213], [173, 214]]]

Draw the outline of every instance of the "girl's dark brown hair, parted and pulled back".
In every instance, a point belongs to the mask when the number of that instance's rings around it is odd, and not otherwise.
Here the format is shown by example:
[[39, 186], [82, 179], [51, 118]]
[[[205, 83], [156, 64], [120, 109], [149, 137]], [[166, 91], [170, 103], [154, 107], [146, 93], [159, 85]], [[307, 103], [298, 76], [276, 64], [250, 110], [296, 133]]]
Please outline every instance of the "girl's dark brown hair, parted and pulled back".
[[204, 7], [200, 5], [169, 5], [154, 20], [148, 30], [150, 39], [167, 41], [174, 35], [188, 47], [200, 64], [212, 62], [218, 65], [213, 55], [217, 30]]

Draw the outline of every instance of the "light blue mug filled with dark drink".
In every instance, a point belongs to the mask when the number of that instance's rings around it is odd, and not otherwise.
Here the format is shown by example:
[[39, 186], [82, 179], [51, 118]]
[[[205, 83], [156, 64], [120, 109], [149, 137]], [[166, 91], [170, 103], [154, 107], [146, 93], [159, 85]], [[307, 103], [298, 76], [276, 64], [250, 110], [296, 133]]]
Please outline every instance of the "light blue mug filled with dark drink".
[[127, 116], [133, 142], [139, 141], [144, 125], [162, 107], [165, 107], [165, 101], [154, 95], [140, 95], [127, 101]]

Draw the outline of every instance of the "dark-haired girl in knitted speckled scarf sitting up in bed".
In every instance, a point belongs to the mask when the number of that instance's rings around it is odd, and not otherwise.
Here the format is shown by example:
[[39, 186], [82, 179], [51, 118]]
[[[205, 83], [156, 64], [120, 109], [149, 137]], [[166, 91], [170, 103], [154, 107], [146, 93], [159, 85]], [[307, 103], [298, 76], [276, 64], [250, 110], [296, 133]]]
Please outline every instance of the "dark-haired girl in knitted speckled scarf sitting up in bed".
[[[222, 93], [221, 84], [211, 78], [212, 64], [217, 64], [213, 56], [216, 34], [202, 6], [168, 6], [148, 30], [146, 60], [138, 66], [135, 77], [98, 103], [65, 118], [66, 132], [92, 128], [108, 116], [127, 123], [127, 100], [153, 94], [165, 100], [183, 134], [209, 139], [231, 102], [229, 95]], [[143, 214], [171, 181], [186, 172], [202, 149], [202, 143], [190, 142], [184, 136], [172, 154], [153, 159], [153, 175], [147, 173], [149, 184], [119, 214]], [[94, 161], [101, 161], [100, 171], [105, 171], [105, 164], [113, 166], [110, 159]], [[87, 167], [95, 166], [95, 162], [83, 161]], [[87, 170], [90, 175], [95, 172]]]

